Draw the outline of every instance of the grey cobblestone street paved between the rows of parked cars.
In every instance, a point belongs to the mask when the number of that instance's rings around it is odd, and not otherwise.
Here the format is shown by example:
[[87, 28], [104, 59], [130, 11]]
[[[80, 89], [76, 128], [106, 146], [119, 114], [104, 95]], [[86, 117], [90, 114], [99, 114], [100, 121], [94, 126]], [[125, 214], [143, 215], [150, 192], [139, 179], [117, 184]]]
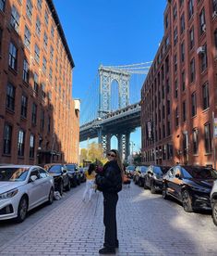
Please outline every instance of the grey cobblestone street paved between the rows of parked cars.
[[[102, 193], [84, 203], [84, 187], [34, 211], [22, 224], [0, 223], [0, 255], [99, 255]], [[119, 193], [117, 220], [116, 255], [217, 255], [217, 227], [209, 213], [187, 213], [134, 184]]]

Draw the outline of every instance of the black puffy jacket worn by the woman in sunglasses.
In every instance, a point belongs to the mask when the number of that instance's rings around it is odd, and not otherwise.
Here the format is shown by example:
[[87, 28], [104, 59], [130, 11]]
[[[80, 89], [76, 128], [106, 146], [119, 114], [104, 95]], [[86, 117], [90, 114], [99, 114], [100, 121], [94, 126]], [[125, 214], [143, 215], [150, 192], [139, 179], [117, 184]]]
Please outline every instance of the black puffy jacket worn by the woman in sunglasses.
[[102, 173], [96, 175], [98, 190], [106, 193], [117, 193], [122, 189], [121, 170], [115, 160], [107, 161]]

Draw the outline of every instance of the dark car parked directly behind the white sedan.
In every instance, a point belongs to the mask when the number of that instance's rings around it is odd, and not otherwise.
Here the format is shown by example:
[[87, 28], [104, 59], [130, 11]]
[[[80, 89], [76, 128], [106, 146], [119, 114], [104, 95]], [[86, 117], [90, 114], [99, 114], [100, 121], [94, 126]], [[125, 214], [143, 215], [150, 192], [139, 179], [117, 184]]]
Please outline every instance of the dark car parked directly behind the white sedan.
[[45, 169], [54, 177], [54, 191], [59, 191], [62, 196], [64, 189], [66, 189], [66, 191], [70, 190], [71, 184], [65, 164], [47, 164], [45, 165]]

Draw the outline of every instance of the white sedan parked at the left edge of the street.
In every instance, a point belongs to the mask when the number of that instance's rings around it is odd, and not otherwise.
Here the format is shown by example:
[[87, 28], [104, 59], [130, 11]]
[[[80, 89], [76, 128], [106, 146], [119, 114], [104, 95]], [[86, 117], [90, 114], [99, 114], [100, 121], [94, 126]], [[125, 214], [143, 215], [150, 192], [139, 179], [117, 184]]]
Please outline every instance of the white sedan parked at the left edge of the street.
[[54, 200], [54, 178], [39, 166], [0, 166], [0, 221], [17, 218], [43, 202]]

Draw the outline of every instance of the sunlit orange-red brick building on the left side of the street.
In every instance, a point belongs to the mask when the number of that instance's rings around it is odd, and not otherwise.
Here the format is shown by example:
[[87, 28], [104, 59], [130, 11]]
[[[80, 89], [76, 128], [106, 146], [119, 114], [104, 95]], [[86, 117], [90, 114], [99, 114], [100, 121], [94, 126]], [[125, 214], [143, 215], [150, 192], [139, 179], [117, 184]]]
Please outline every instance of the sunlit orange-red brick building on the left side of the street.
[[78, 162], [74, 68], [51, 0], [0, 0], [0, 162]]

